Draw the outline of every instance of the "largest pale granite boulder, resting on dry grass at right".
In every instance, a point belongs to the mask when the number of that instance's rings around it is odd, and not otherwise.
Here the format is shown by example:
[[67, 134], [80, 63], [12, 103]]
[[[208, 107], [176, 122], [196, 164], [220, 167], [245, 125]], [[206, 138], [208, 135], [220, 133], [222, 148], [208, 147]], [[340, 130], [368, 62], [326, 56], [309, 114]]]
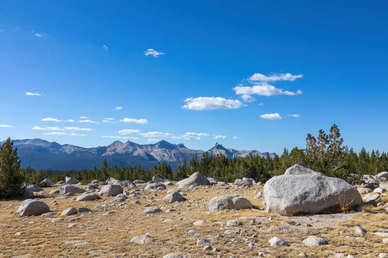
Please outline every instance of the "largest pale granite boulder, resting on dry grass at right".
[[306, 171], [303, 167], [299, 172], [295, 169], [292, 174], [276, 176], [265, 183], [268, 213], [319, 213], [341, 205], [363, 204], [357, 189], [346, 181]]

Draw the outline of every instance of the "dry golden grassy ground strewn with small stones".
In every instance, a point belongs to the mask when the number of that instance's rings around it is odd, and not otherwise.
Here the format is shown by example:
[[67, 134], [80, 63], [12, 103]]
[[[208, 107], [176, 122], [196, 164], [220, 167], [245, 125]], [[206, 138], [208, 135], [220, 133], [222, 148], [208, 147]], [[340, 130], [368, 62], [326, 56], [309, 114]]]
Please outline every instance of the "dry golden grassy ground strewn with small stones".
[[[168, 189], [174, 186], [169, 186]], [[1, 257], [163, 257], [172, 252], [186, 252], [192, 257], [217, 257], [222, 255], [229, 258], [259, 257], [298, 257], [305, 252], [308, 257], [331, 257], [338, 253], [356, 255], [356, 257], [378, 257], [381, 252], [388, 253], [388, 243], [383, 243], [381, 237], [373, 232], [388, 232], [388, 215], [380, 209], [370, 209], [369, 212], [350, 212], [337, 214], [322, 214], [311, 216], [283, 217], [266, 214], [260, 209], [264, 197], [255, 198], [262, 191], [262, 186], [251, 188], [236, 188], [229, 186], [201, 186], [197, 190], [183, 189], [187, 194], [186, 201], [178, 204], [164, 203], [161, 199], [166, 195], [164, 191], [141, 191], [140, 198], [128, 197], [124, 205], [118, 207], [105, 206], [112, 204], [114, 197], [102, 197], [94, 201], [77, 202], [71, 197], [58, 200], [58, 205], [51, 205], [51, 201], [59, 195], [49, 195], [49, 191], [59, 189], [50, 187], [47, 193], [36, 194], [44, 201], [51, 211], [57, 212], [51, 218], [41, 216], [19, 217], [14, 215], [22, 199], [0, 201], [0, 256]], [[132, 189], [128, 189], [132, 191]], [[154, 201], [147, 197], [153, 196]], [[258, 206], [258, 210], [207, 212], [211, 197], [219, 195], [240, 194]], [[387, 199], [387, 195], [383, 195]], [[140, 201], [134, 204], [133, 201]], [[146, 215], [144, 205], [150, 204], [162, 209], [161, 213]], [[100, 207], [97, 207], [100, 206]], [[93, 213], [81, 213], [72, 216], [62, 216], [65, 220], [53, 223], [52, 218], [60, 218], [62, 211], [69, 207], [88, 207]], [[174, 208], [174, 212], [165, 212]], [[105, 212], [114, 212], [103, 215]], [[74, 222], [71, 218], [79, 217]], [[239, 219], [243, 225], [238, 228], [226, 228], [226, 222]], [[252, 222], [252, 219], [255, 221]], [[194, 226], [193, 222], [204, 220], [205, 223]], [[69, 227], [69, 224], [75, 224]], [[300, 226], [293, 224], [299, 223]], [[307, 225], [310, 224], [310, 225]], [[354, 233], [354, 228], [361, 226], [368, 233], [362, 238]], [[195, 229], [199, 235], [184, 235], [188, 230]], [[240, 229], [240, 230], [238, 230]], [[246, 232], [241, 232], [245, 229]], [[226, 230], [232, 233], [226, 234]], [[25, 232], [16, 236], [17, 232]], [[131, 243], [135, 236], [148, 234], [156, 241], [147, 244]], [[224, 238], [216, 237], [223, 235]], [[256, 234], [256, 237], [253, 235]], [[321, 236], [328, 240], [328, 245], [307, 247], [302, 241], [307, 236]], [[270, 247], [268, 240], [278, 236], [290, 243], [289, 247]], [[208, 239], [212, 248], [217, 247], [221, 252], [204, 251], [203, 246], [197, 246], [199, 237]], [[76, 243], [89, 242], [80, 246]], [[249, 243], [255, 243], [250, 248]]]

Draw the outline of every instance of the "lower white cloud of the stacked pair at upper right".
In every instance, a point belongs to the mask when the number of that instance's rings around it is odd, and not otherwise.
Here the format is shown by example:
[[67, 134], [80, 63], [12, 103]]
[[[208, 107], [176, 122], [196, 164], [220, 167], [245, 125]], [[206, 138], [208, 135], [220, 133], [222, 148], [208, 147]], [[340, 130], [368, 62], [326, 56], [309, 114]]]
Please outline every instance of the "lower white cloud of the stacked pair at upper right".
[[302, 91], [298, 90], [296, 92], [284, 91], [283, 89], [275, 88], [275, 86], [269, 85], [267, 83], [262, 83], [255, 86], [236, 86], [233, 88], [236, 91], [236, 94], [252, 95], [257, 94], [260, 96], [275, 96], [275, 95], [289, 95], [295, 96], [302, 94]]

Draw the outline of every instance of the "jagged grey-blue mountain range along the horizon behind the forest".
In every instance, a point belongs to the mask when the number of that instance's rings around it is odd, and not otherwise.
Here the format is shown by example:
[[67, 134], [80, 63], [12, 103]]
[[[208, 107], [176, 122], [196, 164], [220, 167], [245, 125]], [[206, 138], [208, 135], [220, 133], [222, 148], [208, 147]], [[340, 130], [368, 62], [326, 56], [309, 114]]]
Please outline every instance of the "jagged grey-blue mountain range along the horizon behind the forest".
[[[0, 141], [2, 145], [4, 141]], [[172, 168], [182, 165], [186, 159], [197, 155], [200, 159], [204, 153], [201, 150], [191, 150], [186, 148], [183, 143], [171, 144], [161, 140], [155, 144], [137, 144], [131, 141], [125, 143], [117, 140], [108, 146], [99, 146], [95, 148], [83, 148], [74, 145], [61, 145], [56, 142], [49, 142], [42, 139], [24, 139], [13, 140], [14, 148], [17, 148], [17, 154], [21, 160], [21, 167], [31, 166], [37, 169], [93, 169], [102, 167], [104, 159], [107, 159], [108, 166], [117, 167], [141, 166], [151, 169], [158, 162], [166, 161]], [[271, 158], [275, 153], [259, 151], [236, 151], [226, 149], [216, 143], [213, 148], [207, 151], [209, 155], [224, 154], [229, 158], [234, 156], [245, 157], [260, 155]]]

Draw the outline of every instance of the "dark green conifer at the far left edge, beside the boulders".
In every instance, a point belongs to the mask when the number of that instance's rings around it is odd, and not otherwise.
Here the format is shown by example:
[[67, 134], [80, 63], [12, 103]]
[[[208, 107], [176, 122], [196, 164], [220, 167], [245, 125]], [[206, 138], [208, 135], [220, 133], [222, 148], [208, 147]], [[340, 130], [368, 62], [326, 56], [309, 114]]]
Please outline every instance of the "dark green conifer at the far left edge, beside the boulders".
[[24, 193], [24, 176], [20, 171], [17, 149], [12, 149], [11, 138], [0, 147], [0, 197]]

